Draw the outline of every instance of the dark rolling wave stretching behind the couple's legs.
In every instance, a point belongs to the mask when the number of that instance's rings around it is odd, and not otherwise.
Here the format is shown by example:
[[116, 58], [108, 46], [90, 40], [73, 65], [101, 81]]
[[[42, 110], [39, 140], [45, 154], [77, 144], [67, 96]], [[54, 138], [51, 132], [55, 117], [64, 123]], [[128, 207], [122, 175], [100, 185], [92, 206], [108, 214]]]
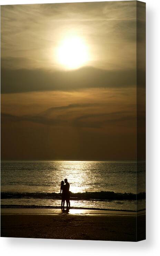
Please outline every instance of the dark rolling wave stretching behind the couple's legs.
[[[7, 198], [57, 198], [60, 199], [60, 193], [44, 193], [44, 192], [1, 192], [1, 199]], [[139, 200], [146, 198], [146, 192], [139, 194], [133, 193], [116, 193], [114, 191], [96, 191], [72, 193], [70, 192], [70, 199], [74, 200]]]

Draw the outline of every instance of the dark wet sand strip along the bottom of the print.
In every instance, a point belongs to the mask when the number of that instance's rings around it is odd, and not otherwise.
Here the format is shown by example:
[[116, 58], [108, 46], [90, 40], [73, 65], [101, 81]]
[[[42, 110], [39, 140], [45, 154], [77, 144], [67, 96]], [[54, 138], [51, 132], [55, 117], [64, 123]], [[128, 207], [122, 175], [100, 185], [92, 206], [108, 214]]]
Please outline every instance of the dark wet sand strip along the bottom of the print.
[[146, 239], [146, 213], [2, 208], [1, 237], [136, 242]]

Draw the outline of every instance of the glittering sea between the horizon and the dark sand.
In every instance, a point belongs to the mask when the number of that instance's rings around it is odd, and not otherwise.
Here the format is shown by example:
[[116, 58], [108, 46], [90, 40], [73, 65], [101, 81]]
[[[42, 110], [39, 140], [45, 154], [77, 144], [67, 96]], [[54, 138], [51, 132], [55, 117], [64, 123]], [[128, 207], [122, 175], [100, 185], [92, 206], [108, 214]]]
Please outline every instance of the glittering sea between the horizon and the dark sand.
[[[1, 206], [58, 207], [70, 183], [71, 207], [146, 208], [146, 165], [134, 161], [2, 161]], [[138, 187], [137, 187], [138, 180]]]

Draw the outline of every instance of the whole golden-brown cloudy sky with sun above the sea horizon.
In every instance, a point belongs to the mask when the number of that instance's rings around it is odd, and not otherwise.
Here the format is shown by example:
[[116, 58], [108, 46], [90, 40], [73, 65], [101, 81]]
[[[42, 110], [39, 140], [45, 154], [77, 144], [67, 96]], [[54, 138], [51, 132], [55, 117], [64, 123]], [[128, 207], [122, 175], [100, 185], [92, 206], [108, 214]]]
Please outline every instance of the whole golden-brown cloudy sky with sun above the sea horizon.
[[2, 159], [136, 159], [137, 65], [145, 73], [144, 6], [138, 23], [136, 7], [1, 6]]

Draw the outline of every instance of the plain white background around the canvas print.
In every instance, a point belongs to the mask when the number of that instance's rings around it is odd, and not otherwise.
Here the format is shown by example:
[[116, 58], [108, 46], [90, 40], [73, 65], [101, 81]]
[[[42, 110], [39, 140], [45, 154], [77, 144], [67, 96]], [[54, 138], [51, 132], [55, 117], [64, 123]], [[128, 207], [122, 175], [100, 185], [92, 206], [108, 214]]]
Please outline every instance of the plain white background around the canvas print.
[[[97, 0], [98, 1], [98, 0]], [[75, 2], [74, 0], [0, 0], [0, 4]], [[76, 2], [83, 2], [77, 0]], [[92, 2], [89, 1], [88, 2]], [[160, 250], [160, 1], [147, 7], [147, 239], [133, 242], [0, 238], [2, 255], [154, 256]]]

